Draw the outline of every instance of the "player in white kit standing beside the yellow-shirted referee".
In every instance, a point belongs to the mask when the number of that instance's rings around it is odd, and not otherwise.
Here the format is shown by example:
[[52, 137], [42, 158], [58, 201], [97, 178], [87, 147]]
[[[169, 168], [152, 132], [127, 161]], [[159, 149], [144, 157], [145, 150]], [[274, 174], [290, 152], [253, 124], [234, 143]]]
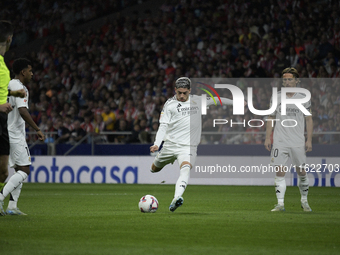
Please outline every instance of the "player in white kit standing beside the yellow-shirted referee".
[[[15, 78], [8, 84], [9, 90], [24, 89], [26, 97], [9, 97], [9, 103], [13, 111], [8, 114], [8, 133], [10, 142], [9, 166], [15, 169], [15, 174], [11, 176], [7, 184], [0, 192], [0, 214], [1, 215], [26, 215], [17, 207], [22, 183], [30, 173], [31, 156], [26, 143], [25, 121], [37, 132], [39, 140], [45, 139], [44, 134], [33, 121], [28, 112], [28, 90], [26, 84], [33, 76], [31, 62], [24, 58], [16, 59], [13, 62], [13, 72]], [[3, 201], [10, 194], [9, 204], [6, 212], [3, 208]]]

